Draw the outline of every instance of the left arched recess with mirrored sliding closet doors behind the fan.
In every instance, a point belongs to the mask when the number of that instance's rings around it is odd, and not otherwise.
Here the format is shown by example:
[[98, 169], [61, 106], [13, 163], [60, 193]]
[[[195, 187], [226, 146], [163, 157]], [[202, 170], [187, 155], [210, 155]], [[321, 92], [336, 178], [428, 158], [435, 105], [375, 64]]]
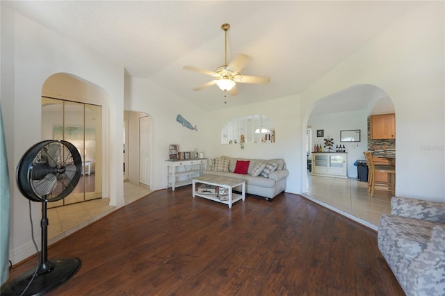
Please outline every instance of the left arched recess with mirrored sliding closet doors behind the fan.
[[79, 151], [83, 173], [72, 194], [49, 208], [102, 198], [103, 123], [106, 94], [77, 76], [58, 73], [42, 85], [42, 140], [67, 140]]

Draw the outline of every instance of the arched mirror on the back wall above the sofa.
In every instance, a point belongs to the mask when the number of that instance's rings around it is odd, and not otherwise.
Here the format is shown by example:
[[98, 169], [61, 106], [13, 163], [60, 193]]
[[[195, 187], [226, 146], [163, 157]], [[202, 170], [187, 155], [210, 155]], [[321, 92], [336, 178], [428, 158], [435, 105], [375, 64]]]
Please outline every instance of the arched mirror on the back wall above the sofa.
[[238, 144], [241, 135], [244, 135], [246, 144], [275, 142], [275, 129], [266, 115], [232, 118], [221, 130], [221, 144]]

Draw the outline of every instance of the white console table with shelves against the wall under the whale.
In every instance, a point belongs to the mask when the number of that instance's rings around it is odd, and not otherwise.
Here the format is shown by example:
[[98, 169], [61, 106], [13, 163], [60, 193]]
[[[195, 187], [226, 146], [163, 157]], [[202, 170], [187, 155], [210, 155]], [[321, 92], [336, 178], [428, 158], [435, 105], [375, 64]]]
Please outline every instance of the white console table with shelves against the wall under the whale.
[[168, 160], [165, 164], [167, 165], [167, 188], [171, 187], [175, 191], [175, 188], [179, 186], [191, 184], [194, 176], [202, 176], [202, 172], [207, 167], [207, 158], [186, 161]]

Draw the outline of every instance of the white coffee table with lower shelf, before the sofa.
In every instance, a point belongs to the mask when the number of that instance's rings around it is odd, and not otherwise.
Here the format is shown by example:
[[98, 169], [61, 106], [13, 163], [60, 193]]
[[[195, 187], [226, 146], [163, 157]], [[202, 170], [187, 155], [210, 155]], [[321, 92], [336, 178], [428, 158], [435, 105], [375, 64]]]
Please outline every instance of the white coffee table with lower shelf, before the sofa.
[[[227, 200], [221, 200], [216, 197], [216, 195], [204, 195], [202, 193], [198, 193], [196, 190], [196, 183], [209, 184], [213, 186], [225, 187], [229, 189], [229, 198]], [[238, 202], [238, 200], [243, 199], [245, 201], [245, 181], [243, 179], [229, 178], [227, 176], [218, 176], [207, 174], [204, 176], [199, 176], [193, 178], [193, 198], [195, 196], [204, 197], [207, 199], [211, 199], [215, 202], [220, 202], [222, 204], [227, 204], [229, 208], [232, 208], [232, 204], [234, 202]], [[241, 195], [238, 193], [233, 193], [232, 189], [236, 186], [242, 186], [243, 190], [241, 191]]]

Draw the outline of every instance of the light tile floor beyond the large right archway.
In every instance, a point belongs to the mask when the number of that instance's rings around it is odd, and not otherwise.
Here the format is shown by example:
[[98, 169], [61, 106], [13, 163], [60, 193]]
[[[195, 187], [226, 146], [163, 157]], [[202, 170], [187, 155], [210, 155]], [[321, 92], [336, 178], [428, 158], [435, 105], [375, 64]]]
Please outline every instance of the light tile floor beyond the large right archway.
[[367, 183], [357, 179], [307, 174], [308, 192], [303, 196], [331, 208], [371, 229], [378, 229], [380, 215], [391, 213], [391, 192], [375, 190], [371, 197]]

